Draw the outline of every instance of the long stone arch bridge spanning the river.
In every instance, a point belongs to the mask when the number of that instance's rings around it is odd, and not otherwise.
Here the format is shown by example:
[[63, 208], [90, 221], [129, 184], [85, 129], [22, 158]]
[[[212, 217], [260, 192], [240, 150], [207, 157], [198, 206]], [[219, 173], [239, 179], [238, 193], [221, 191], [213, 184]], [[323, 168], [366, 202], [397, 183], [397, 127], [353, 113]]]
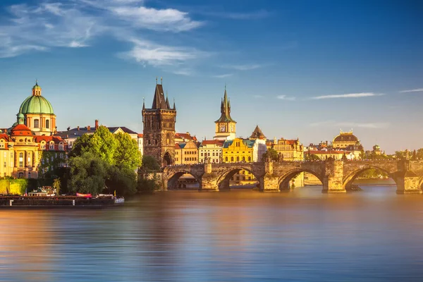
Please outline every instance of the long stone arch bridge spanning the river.
[[223, 163], [167, 166], [162, 174], [164, 190], [176, 188], [178, 178], [185, 173], [200, 184], [199, 190], [229, 189], [229, 180], [240, 170], [249, 171], [257, 179], [259, 190], [278, 192], [289, 190], [289, 181], [301, 172], [312, 173], [323, 184], [322, 192], [346, 192], [355, 178], [369, 168], [379, 168], [397, 184], [396, 192], [422, 193], [423, 161], [281, 161], [255, 163]]

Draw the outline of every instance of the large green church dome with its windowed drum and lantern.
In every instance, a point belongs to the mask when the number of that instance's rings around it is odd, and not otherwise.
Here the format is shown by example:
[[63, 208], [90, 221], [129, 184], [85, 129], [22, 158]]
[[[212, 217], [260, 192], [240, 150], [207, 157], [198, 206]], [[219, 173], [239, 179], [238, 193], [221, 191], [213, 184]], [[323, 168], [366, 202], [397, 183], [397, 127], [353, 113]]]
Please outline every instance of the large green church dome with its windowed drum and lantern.
[[42, 96], [42, 89], [38, 82], [35, 82], [34, 87], [32, 87], [30, 97], [27, 97], [20, 105], [18, 114], [23, 114], [23, 124], [35, 135], [53, 135], [56, 133], [56, 115], [53, 106]]

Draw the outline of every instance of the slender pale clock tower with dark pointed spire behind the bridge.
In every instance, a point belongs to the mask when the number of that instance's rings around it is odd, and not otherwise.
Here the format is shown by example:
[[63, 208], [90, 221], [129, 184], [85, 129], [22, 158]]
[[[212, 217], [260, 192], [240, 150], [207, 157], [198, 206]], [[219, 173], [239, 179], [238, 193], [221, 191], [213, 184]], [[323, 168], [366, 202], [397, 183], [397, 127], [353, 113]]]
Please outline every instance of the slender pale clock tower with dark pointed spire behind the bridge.
[[214, 122], [215, 123], [215, 135], [214, 140], [233, 140], [236, 133], [236, 121], [231, 118], [231, 102], [228, 99], [228, 93], [223, 94], [221, 100], [221, 116]]

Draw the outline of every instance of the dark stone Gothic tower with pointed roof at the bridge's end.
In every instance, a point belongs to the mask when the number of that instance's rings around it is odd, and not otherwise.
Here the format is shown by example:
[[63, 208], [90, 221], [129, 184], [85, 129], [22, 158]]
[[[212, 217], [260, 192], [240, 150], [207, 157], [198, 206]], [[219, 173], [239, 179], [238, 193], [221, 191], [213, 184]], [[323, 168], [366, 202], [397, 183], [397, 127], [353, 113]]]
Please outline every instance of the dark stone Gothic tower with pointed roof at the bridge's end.
[[168, 166], [175, 163], [176, 106], [173, 101], [171, 108], [167, 93], [164, 97], [162, 81], [158, 84], [156, 78], [152, 108], [145, 109], [145, 102], [142, 103], [143, 143], [146, 156], [156, 158], [161, 166]]

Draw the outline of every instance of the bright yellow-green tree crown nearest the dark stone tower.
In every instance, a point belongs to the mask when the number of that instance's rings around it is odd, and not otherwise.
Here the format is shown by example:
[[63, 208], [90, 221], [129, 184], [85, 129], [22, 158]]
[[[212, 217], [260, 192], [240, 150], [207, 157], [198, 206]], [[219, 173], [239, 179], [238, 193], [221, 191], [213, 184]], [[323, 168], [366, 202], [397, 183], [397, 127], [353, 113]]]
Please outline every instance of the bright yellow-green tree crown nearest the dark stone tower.
[[118, 133], [114, 137], [117, 141], [114, 155], [116, 165], [125, 166], [135, 171], [141, 166], [142, 158], [137, 142], [128, 133]]

